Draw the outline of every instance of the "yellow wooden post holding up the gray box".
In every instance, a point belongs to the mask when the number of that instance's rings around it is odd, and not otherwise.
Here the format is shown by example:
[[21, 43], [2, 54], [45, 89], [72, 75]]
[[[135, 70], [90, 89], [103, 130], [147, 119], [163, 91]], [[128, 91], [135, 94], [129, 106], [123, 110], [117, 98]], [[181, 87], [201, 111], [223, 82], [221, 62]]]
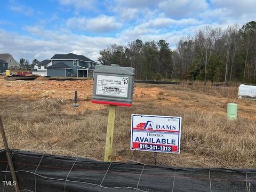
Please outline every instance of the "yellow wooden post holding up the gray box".
[[105, 156], [104, 156], [105, 162], [111, 162], [115, 116], [116, 116], [116, 106], [110, 105], [109, 111], [108, 111], [108, 127], [107, 127]]

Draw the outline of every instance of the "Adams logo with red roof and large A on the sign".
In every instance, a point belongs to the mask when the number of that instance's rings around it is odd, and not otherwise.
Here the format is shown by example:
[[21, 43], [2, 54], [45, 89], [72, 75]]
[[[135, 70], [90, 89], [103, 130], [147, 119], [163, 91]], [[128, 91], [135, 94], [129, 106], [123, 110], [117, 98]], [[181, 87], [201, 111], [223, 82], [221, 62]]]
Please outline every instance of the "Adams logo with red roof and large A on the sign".
[[151, 121], [146, 123], [139, 123], [133, 129], [140, 130], [176, 130], [176, 125], [164, 125], [164, 124], [154, 124]]

